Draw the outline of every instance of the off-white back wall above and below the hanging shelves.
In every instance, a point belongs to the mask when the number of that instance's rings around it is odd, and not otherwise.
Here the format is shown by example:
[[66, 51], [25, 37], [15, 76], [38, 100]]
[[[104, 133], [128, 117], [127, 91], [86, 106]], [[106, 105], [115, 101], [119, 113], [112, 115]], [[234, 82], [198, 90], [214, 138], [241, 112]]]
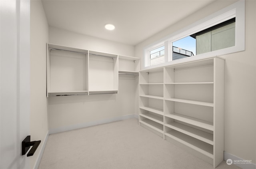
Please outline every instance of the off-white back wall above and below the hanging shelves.
[[[134, 56], [134, 46], [52, 27], [49, 27], [49, 43]], [[118, 94], [49, 97], [50, 133], [134, 116], [137, 79], [134, 76], [119, 76]]]

